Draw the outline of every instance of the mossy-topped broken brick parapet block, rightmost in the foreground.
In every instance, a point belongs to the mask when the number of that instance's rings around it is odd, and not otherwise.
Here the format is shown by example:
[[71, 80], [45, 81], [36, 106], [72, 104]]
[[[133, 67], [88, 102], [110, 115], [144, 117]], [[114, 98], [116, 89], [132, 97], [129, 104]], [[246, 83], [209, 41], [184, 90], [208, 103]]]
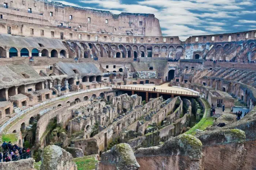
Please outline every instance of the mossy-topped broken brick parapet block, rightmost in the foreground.
[[202, 141], [204, 169], [207, 170], [245, 170], [248, 169], [246, 162], [251, 162], [251, 154], [255, 155], [255, 148], [246, 148], [245, 132], [239, 129], [202, 132], [196, 137]]

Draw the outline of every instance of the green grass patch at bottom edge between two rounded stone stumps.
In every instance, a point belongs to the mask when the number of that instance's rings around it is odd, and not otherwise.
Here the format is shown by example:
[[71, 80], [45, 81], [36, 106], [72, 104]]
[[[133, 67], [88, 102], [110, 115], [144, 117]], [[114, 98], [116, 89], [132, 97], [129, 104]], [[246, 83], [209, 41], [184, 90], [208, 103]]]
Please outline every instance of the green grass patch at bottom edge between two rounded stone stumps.
[[95, 160], [94, 156], [95, 155], [74, 158], [73, 162], [76, 163], [78, 170], [92, 170], [95, 169], [95, 164], [98, 162], [98, 160]]

